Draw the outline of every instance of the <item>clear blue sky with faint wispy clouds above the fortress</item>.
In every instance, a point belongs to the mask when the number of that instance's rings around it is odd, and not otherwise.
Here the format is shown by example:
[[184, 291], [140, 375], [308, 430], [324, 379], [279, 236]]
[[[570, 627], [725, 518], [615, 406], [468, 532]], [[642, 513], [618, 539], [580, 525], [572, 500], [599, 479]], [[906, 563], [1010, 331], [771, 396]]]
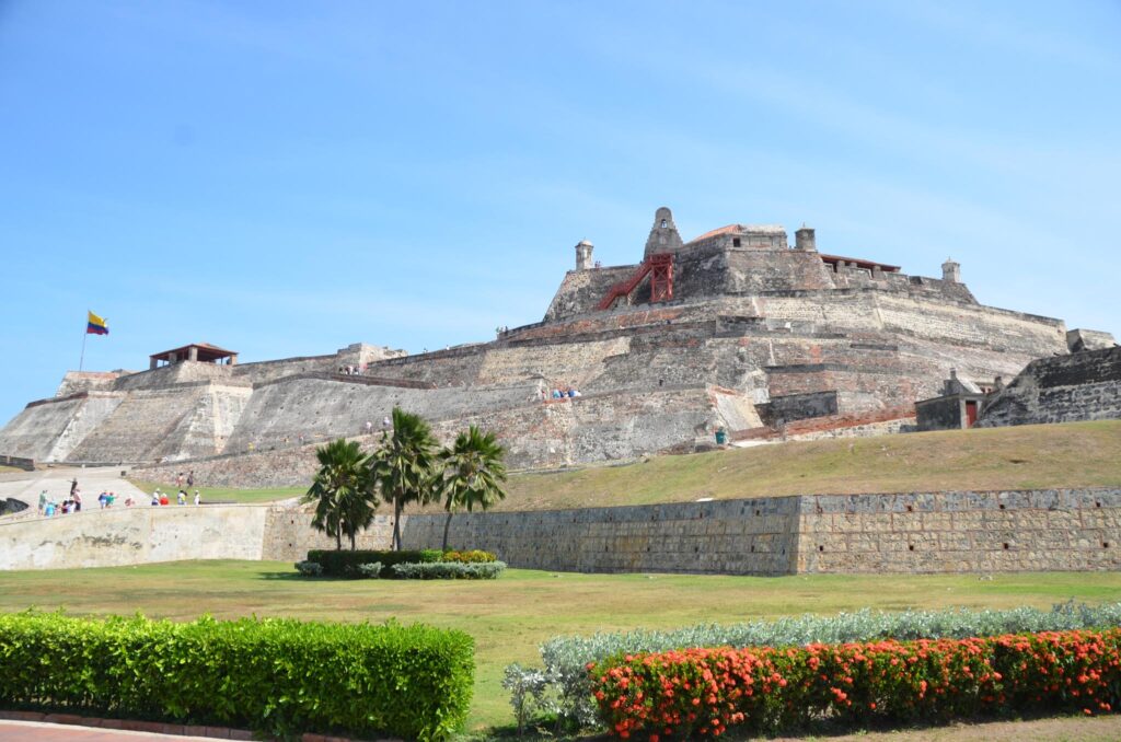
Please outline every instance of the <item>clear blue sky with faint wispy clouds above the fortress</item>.
[[824, 252], [1121, 335], [1121, 4], [0, 0], [0, 419], [77, 367], [420, 351], [636, 262]]

